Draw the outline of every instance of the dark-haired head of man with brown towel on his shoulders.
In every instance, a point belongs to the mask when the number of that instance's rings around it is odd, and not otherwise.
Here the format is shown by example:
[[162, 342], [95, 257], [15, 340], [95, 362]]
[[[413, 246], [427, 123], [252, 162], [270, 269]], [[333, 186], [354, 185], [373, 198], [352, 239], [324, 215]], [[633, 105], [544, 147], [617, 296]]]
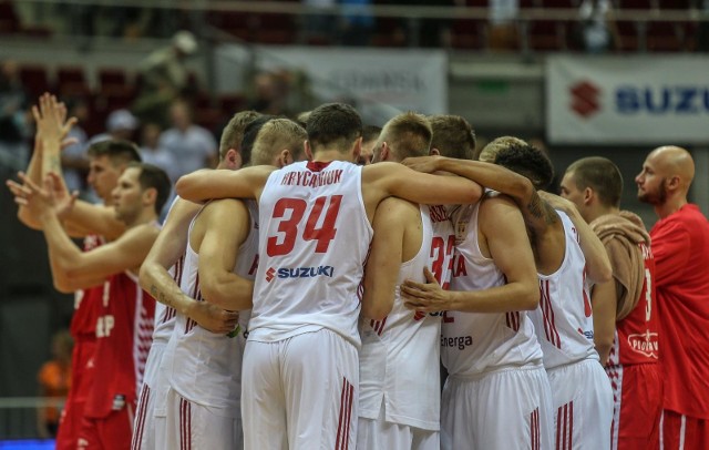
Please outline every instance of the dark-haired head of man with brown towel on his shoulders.
[[578, 190], [594, 190], [603, 205], [620, 206], [623, 175], [610, 160], [600, 156], [583, 157], [569, 165], [566, 173], [572, 174]]

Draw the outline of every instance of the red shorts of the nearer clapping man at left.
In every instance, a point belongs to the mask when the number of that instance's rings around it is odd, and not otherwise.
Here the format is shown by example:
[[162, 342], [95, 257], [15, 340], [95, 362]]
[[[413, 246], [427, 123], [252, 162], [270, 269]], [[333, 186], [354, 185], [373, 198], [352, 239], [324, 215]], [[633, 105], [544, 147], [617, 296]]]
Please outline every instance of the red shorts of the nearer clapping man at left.
[[133, 440], [135, 405], [127, 402], [123, 408], [104, 418], [84, 417], [79, 431], [79, 450], [127, 450]]

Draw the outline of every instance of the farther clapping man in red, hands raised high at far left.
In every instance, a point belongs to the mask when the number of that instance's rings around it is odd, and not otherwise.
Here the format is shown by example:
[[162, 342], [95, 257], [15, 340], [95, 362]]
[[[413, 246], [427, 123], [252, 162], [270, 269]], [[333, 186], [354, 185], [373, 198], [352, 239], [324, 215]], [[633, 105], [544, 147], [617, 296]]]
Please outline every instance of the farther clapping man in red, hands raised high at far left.
[[[27, 175], [37, 184], [50, 172], [61, 174], [59, 147], [71, 144], [64, 140], [75, 119], [66, 119], [64, 105], [50, 94], [39, 99], [38, 105], [32, 110], [37, 136], [32, 158], [27, 170]], [[51, 143], [54, 141], [54, 143]], [[43, 144], [50, 143], [50, 150], [45, 152]], [[59, 147], [58, 147], [59, 145]], [[113, 197], [111, 192], [115, 188], [121, 173], [130, 162], [140, 161], [140, 154], [134, 145], [126, 141], [111, 141], [96, 143], [88, 150], [90, 168], [88, 183], [103, 201], [102, 205], [91, 205], [86, 202], [74, 201], [62, 186], [55, 195], [62, 196], [68, 203], [73, 203], [71, 211], [64, 214], [63, 223], [66, 232], [72, 237], [83, 237], [84, 252], [96, 248], [106, 239], [114, 239], [123, 233], [125, 225], [116, 221], [113, 214]], [[11, 190], [12, 184], [11, 184]], [[20, 186], [16, 185], [13, 193], [20, 193]], [[22, 195], [29, 195], [25, 190]], [[24, 225], [33, 229], [41, 229], [41, 224], [33, 217], [29, 209], [20, 205], [18, 218]], [[51, 256], [51, 255], [50, 255]], [[51, 258], [50, 258], [51, 260]], [[52, 264], [52, 268], [56, 265]], [[76, 448], [79, 427], [83, 418], [83, 409], [86, 396], [93, 380], [92, 367], [89, 366], [95, 348], [95, 326], [99, 315], [99, 301], [103, 295], [103, 286], [75, 288], [61, 277], [61, 270], [52, 270], [54, 286], [64, 293], [74, 293], [74, 314], [72, 315], [70, 331], [74, 339], [71, 368], [71, 389], [62, 410], [59, 431], [56, 434], [58, 450], [73, 450]]]

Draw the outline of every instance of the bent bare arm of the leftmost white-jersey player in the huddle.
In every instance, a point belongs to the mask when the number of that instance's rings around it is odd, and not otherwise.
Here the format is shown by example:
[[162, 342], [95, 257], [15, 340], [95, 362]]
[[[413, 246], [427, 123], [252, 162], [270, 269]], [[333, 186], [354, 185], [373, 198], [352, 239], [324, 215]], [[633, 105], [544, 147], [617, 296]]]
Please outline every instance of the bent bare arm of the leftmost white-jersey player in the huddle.
[[157, 301], [175, 308], [202, 328], [227, 334], [236, 327], [238, 314], [191, 298], [167, 272], [185, 254], [189, 223], [199, 208], [195, 203], [177, 200], [141, 266], [140, 284]]

